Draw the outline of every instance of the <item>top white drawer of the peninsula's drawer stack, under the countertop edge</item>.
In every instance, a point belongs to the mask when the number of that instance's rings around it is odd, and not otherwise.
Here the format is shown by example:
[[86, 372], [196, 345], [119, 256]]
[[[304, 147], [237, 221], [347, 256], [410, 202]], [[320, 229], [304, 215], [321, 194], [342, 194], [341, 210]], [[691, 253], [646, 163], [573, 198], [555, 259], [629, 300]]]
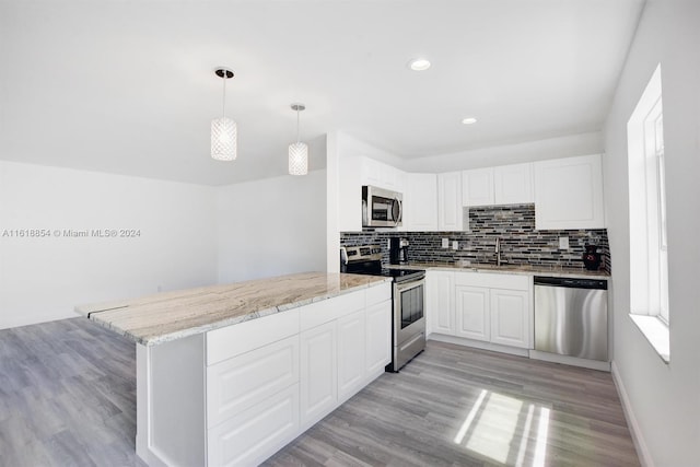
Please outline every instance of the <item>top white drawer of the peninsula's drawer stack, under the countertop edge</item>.
[[212, 365], [299, 334], [299, 310], [289, 310], [207, 332], [207, 364]]

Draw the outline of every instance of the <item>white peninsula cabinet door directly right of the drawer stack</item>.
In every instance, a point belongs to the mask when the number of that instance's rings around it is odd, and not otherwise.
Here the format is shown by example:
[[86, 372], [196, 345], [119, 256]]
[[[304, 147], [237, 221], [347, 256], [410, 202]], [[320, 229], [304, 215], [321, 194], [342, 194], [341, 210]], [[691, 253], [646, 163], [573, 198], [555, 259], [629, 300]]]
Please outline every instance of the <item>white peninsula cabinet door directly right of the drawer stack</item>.
[[301, 421], [306, 429], [336, 406], [338, 366], [336, 322], [300, 335]]

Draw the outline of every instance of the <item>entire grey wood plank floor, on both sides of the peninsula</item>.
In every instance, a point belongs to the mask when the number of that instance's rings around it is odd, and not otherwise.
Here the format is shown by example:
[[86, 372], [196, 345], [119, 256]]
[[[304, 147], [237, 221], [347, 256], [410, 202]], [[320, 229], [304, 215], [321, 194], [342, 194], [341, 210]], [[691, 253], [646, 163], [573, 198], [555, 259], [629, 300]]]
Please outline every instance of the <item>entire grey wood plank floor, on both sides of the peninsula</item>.
[[[0, 330], [0, 466], [143, 466], [135, 346], [84, 318]], [[430, 341], [268, 466], [638, 466], [610, 375]]]

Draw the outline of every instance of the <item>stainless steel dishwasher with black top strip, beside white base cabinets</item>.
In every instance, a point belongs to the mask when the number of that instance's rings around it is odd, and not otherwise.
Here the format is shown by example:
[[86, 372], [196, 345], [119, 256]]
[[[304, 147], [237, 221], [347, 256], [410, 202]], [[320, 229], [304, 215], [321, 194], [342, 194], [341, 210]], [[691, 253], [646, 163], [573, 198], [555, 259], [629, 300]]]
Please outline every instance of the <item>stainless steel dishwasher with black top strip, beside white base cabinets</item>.
[[608, 282], [535, 277], [535, 350], [608, 361]]

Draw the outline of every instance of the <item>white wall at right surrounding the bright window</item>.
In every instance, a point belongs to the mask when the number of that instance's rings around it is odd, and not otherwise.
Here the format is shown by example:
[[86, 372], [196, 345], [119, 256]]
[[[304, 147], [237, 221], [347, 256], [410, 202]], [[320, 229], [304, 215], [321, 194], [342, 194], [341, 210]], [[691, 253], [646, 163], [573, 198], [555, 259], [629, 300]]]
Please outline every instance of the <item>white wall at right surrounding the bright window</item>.
[[[700, 2], [649, 0], [605, 125], [615, 370], [646, 465], [698, 465], [700, 446]], [[670, 364], [630, 320], [627, 121], [662, 63]], [[633, 234], [633, 233], [632, 233]]]

